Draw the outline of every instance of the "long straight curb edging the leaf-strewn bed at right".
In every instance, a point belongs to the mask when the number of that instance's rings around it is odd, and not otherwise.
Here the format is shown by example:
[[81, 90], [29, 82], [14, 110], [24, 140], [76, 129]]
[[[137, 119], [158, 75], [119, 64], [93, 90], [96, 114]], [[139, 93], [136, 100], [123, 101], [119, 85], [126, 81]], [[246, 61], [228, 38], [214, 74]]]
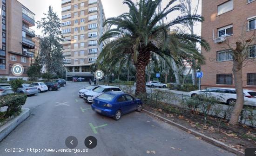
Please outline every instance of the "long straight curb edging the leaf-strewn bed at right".
[[153, 112], [149, 112], [149, 111], [147, 111], [145, 109], [143, 109], [143, 111], [145, 111], [145, 112], [147, 112], [147, 113], [149, 113], [149, 114], [151, 114], [151, 115], [153, 115], [153, 116], [155, 116], [157, 118], [160, 118], [160, 119], [166, 121], [168, 124], [174, 125], [174, 126], [180, 128], [180, 129], [182, 129], [183, 131], [191, 131], [191, 134], [195, 135], [196, 137], [201, 137], [203, 140], [209, 142], [210, 144], [213, 144], [213, 145], [216, 145], [217, 147], [220, 147], [220, 148], [223, 148], [225, 150], [228, 150], [229, 152], [232, 152], [232, 153], [236, 154], [237, 156], [244, 156], [243, 152], [241, 152], [239, 150], [236, 150], [235, 148], [229, 147], [229, 145], [224, 144], [224, 143], [222, 143], [222, 142], [220, 142], [220, 141], [218, 141], [218, 140], [216, 140], [216, 139], [214, 139], [212, 137], [208, 137], [208, 136], [206, 136], [206, 135], [204, 135], [204, 134], [202, 134], [202, 133], [200, 133], [198, 131], [191, 130], [191, 129], [183, 126], [183, 125], [177, 124], [177, 123], [175, 123], [175, 122], [173, 122], [173, 121], [171, 121], [169, 119], [163, 118], [163, 117], [161, 117], [161, 116], [159, 116], [159, 115], [157, 115], [157, 114], [155, 114]]

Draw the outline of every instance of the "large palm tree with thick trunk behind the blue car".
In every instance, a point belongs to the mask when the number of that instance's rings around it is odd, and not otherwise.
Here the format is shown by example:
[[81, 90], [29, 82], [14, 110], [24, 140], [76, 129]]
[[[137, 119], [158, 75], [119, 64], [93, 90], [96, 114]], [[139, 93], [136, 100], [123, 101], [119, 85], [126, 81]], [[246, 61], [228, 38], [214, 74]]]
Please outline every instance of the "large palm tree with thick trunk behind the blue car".
[[98, 59], [101, 60], [104, 56], [111, 59], [115, 55], [131, 55], [136, 69], [135, 94], [146, 93], [145, 69], [150, 62], [152, 53], [162, 58], [168, 56], [179, 61], [177, 57], [179, 55], [176, 53], [181, 51], [182, 44], [201, 43], [205, 49], [209, 49], [209, 45], [199, 36], [181, 32], [168, 33], [170, 27], [186, 23], [191, 19], [202, 21], [202, 17], [199, 15], [182, 15], [168, 23], [159, 25], [159, 21], [168, 14], [181, 10], [179, 4], [174, 4], [175, 1], [170, 0], [162, 11], [157, 12], [162, 0], [140, 0], [136, 3], [132, 0], [124, 0], [123, 4], [129, 7], [129, 12], [109, 18], [103, 23], [104, 26], [108, 25], [111, 29], [103, 34], [99, 43], [109, 38], [112, 40], [103, 48]]

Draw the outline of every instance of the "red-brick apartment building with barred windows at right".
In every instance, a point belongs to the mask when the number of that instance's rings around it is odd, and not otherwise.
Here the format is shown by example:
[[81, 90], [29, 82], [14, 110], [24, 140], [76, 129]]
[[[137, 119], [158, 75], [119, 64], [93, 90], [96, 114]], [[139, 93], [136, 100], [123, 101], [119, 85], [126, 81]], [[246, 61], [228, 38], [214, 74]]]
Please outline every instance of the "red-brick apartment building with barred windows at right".
[[[227, 44], [235, 48], [237, 38], [256, 33], [256, 0], [202, 0], [202, 37], [211, 50], [202, 49], [202, 88], [235, 87], [233, 57]], [[255, 42], [256, 43], [256, 42]], [[243, 87], [256, 90], [256, 45], [250, 45], [243, 67]]]

